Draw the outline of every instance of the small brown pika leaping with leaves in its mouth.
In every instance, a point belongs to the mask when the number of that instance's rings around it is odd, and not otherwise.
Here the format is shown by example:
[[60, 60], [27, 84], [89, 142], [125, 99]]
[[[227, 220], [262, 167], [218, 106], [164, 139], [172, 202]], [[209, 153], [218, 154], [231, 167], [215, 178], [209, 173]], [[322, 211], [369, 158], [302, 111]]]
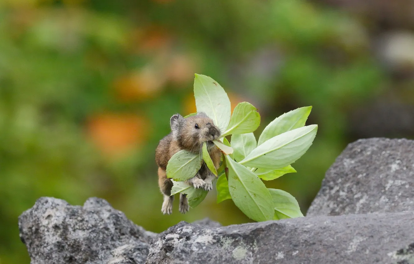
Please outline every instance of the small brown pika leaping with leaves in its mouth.
[[[170, 158], [180, 150], [187, 150], [194, 153], [202, 151], [202, 144], [207, 142], [207, 149], [216, 169], [220, 166], [221, 151], [214, 145], [212, 140], [219, 139], [221, 132], [205, 113], [197, 113], [197, 115], [183, 118], [176, 114], [170, 119], [171, 133], [161, 139], [156, 151], [155, 161], [158, 165], [158, 185], [161, 193], [164, 195], [161, 212], [163, 214], [171, 214], [173, 210], [174, 196], [171, 195], [173, 182], [167, 178], [166, 168]], [[197, 174], [185, 182], [193, 185], [195, 188], [203, 188], [204, 190], [212, 190], [212, 181], [215, 175], [207, 168], [203, 162]], [[179, 211], [185, 214], [189, 209], [186, 194], [180, 193]]]

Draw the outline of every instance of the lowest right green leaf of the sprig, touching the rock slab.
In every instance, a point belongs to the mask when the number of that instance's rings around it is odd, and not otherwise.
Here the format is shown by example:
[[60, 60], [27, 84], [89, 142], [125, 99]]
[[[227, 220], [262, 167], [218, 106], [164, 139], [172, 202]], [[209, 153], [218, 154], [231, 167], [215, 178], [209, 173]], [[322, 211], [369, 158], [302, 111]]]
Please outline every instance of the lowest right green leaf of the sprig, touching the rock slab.
[[277, 189], [268, 189], [272, 195], [274, 203], [274, 218], [279, 220], [284, 218], [303, 217], [298, 201], [289, 192]]

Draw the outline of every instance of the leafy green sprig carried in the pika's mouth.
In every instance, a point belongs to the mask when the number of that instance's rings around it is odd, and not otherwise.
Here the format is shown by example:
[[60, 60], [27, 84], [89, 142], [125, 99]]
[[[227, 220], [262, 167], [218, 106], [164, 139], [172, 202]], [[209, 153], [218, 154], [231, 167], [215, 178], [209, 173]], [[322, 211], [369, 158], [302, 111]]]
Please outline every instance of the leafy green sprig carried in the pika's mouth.
[[[206, 143], [201, 154], [179, 151], [167, 166], [167, 177], [173, 179], [171, 195], [181, 192], [187, 194], [191, 207], [200, 204], [207, 191], [195, 189], [184, 181], [194, 177], [204, 162], [217, 176], [217, 202], [232, 199], [255, 221], [303, 216], [291, 194], [266, 188], [262, 180], [296, 172], [291, 164], [309, 149], [318, 130], [318, 125], [305, 126], [312, 107], [279, 116], [265, 127], [256, 142], [253, 132], [260, 125], [260, 115], [253, 105], [239, 103], [231, 115], [230, 100], [224, 89], [212, 78], [199, 74], [195, 74], [194, 96], [197, 112], [206, 113], [224, 131], [219, 141], [213, 141], [223, 153], [222, 164], [216, 170]], [[229, 135], [231, 142], [226, 139]]]

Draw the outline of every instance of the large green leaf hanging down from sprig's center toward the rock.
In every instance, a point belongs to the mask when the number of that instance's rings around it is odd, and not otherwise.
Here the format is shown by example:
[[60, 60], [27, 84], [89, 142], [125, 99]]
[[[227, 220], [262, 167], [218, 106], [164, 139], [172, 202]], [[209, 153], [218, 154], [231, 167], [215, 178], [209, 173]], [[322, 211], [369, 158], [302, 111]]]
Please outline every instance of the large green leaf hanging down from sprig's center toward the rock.
[[272, 196], [265, 184], [245, 166], [226, 157], [229, 168], [229, 192], [234, 204], [255, 221], [273, 219]]

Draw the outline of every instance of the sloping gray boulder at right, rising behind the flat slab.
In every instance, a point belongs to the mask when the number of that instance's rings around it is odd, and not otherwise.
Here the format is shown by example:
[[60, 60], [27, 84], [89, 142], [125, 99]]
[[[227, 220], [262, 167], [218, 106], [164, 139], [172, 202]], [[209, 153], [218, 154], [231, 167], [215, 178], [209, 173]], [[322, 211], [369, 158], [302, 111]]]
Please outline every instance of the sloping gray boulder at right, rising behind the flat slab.
[[414, 141], [351, 143], [329, 168], [307, 216], [414, 211]]

